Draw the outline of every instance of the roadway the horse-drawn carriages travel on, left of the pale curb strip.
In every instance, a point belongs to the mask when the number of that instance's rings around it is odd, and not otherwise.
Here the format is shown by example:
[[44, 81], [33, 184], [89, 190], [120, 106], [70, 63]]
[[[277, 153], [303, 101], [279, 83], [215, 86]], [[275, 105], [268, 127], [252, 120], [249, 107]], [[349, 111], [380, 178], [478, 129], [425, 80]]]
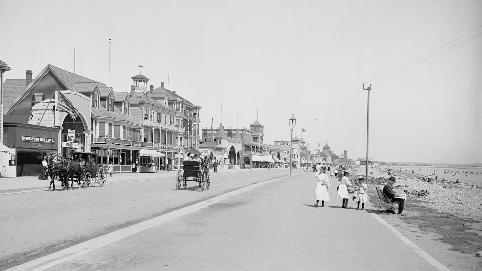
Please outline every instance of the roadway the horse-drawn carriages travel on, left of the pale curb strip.
[[213, 175], [211, 189], [204, 192], [196, 182], [176, 191], [174, 179], [162, 179], [1, 195], [0, 269], [287, 173], [259, 169]]

